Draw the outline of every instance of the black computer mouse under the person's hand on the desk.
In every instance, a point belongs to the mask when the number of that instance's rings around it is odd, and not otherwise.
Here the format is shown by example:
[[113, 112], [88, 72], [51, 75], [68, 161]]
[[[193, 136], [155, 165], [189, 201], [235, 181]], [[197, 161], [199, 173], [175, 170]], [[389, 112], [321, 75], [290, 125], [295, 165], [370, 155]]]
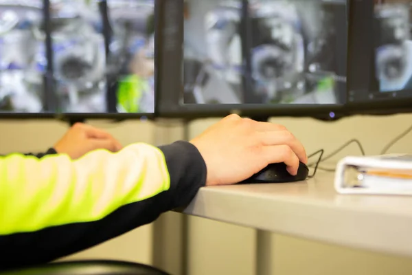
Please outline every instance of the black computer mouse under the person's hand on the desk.
[[256, 173], [255, 175], [249, 177], [242, 181], [244, 184], [270, 184], [270, 183], [286, 183], [293, 181], [303, 181], [308, 178], [309, 168], [303, 162], [299, 162], [299, 168], [297, 169], [297, 175], [290, 175], [288, 170], [286, 170], [286, 164], [277, 163], [269, 164]]

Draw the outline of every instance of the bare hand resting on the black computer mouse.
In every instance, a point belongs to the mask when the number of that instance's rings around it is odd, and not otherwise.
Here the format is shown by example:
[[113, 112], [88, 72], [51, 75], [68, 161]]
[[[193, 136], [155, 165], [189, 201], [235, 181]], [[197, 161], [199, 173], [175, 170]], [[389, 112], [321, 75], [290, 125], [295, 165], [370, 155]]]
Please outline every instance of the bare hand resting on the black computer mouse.
[[205, 160], [207, 186], [236, 184], [279, 162], [296, 175], [299, 160], [308, 162], [304, 146], [284, 126], [239, 115], [228, 115], [190, 142]]

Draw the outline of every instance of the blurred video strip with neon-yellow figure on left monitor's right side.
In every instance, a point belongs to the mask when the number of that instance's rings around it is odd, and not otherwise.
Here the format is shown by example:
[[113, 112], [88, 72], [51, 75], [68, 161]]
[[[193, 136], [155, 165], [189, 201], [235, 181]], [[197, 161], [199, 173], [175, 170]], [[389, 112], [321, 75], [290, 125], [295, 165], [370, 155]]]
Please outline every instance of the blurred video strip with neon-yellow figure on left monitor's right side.
[[117, 111], [155, 111], [155, 0], [108, 0], [113, 37], [109, 74], [117, 79]]

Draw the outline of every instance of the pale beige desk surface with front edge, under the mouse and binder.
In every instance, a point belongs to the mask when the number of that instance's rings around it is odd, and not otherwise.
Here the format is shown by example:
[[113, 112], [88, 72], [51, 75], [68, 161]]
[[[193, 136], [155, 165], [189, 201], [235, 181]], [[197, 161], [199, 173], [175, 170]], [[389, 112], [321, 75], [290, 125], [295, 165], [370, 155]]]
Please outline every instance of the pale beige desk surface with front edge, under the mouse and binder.
[[339, 195], [333, 173], [295, 184], [201, 188], [183, 212], [347, 247], [412, 256], [412, 197]]

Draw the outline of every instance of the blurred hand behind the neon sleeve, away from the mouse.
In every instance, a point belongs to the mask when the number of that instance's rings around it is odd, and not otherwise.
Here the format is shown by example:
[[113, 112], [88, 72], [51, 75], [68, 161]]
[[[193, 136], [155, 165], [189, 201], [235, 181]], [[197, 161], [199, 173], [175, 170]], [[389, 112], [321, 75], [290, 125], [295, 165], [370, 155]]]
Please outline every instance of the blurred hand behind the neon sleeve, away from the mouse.
[[76, 123], [54, 145], [54, 149], [57, 153], [67, 154], [72, 159], [78, 159], [96, 149], [117, 152], [122, 149], [122, 144], [103, 130], [87, 124]]

